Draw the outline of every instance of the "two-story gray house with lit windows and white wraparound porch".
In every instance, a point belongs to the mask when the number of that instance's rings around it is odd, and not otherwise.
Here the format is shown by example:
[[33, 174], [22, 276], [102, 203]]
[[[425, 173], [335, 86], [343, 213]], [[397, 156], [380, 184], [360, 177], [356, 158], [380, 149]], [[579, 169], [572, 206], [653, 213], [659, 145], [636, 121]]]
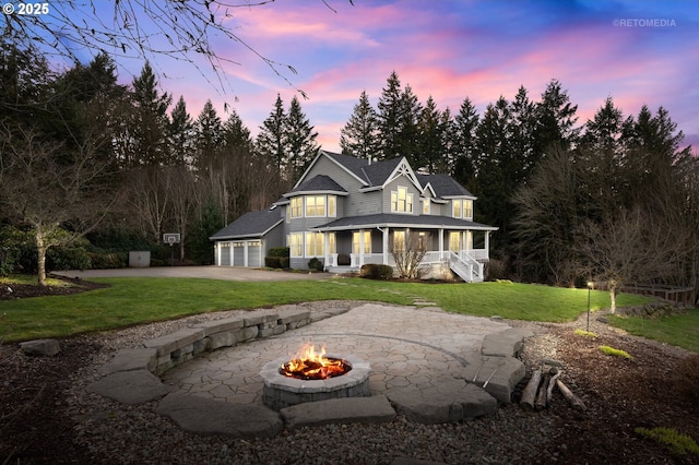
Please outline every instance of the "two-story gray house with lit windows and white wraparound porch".
[[266, 250], [287, 246], [293, 269], [317, 258], [325, 270], [344, 272], [365, 263], [394, 266], [391, 249], [417, 237], [426, 276], [453, 272], [477, 282], [497, 228], [473, 222], [475, 200], [447, 175], [415, 174], [405, 158], [320, 151], [270, 210], [242, 215], [211, 240], [220, 266], [263, 266]]

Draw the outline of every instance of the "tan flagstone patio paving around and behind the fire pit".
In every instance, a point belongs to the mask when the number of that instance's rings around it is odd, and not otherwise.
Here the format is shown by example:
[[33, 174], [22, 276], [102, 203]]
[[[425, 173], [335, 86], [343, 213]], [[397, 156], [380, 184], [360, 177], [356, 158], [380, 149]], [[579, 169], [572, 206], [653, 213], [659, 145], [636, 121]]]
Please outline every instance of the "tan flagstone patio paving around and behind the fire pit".
[[279, 336], [203, 354], [162, 379], [174, 394], [262, 405], [261, 368], [281, 356], [291, 358], [311, 343], [325, 346], [331, 356], [354, 355], [369, 361], [371, 395], [427, 390], [453, 380], [482, 382], [494, 373], [486, 367], [473, 375], [474, 367], [484, 363], [484, 337], [508, 329], [501, 321], [439, 309], [367, 303]]

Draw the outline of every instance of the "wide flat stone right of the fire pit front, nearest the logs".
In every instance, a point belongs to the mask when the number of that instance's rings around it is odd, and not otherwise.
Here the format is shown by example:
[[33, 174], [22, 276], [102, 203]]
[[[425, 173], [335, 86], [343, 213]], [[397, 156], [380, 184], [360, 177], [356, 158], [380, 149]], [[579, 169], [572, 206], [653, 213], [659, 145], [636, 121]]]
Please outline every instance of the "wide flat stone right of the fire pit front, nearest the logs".
[[498, 402], [484, 389], [463, 380], [446, 381], [427, 389], [394, 388], [387, 396], [395, 412], [419, 424], [446, 424], [495, 415]]

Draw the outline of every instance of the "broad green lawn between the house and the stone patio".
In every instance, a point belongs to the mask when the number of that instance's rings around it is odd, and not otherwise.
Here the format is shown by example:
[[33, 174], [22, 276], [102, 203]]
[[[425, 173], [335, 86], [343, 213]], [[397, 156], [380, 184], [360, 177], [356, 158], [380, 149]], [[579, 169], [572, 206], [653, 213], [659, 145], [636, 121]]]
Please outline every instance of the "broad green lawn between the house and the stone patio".
[[[330, 299], [411, 305], [420, 298], [451, 312], [552, 322], [573, 320], [588, 309], [587, 289], [507, 282], [422, 284], [341, 277], [275, 283], [196, 278], [94, 281], [111, 287], [72, 296], [0, 302], [0, 338], [4, 335], [5, 342], [14, 342], [64, 337], [211, 311]], [[623, 294], [617, 303], [624, 307], [645, 301], [644, 297]], [[608, 305], [607, 293], [591, 293], [592, 310]]]

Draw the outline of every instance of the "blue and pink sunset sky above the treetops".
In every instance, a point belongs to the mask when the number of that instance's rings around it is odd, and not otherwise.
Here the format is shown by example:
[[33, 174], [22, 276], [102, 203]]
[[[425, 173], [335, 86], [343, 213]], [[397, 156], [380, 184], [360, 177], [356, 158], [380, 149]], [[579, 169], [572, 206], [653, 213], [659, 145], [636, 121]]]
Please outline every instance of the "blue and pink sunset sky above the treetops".
[[[223, 37], [212, 40], [213, 49], [237, 63], [224, 63], [223, 85], [204, 61], [200, 72], [186, 62], [151, 58], [162, 90], [174, 102], [182, 95], [193, 118], [211, 99], [222, 119], [227, 104], [257, 134], [277, 93], [286, 108], [297, 95], [318, 142], [339, 151], [340, 129], [360, 93], [376, 107], [392, 71], [420, 103], [431, 95], [452, 115], [465, 97], [483, 112], [500, 95], [511, 100], [521, 85], [538, 100], [557, 79], [578, 105], [579, 124], [606, 97], [625, 116], [638, 115], [643, 104], [653, 112], [663, 106], [685, 143], [699, 146], [699, 5], [690, 1], [250, 3], [235, 9], [227, 24], [261, 56], [282, 63], [277, 70], [293, 86]], [[142, 67], [137, 60], [119, 63], [125, 83]]]

